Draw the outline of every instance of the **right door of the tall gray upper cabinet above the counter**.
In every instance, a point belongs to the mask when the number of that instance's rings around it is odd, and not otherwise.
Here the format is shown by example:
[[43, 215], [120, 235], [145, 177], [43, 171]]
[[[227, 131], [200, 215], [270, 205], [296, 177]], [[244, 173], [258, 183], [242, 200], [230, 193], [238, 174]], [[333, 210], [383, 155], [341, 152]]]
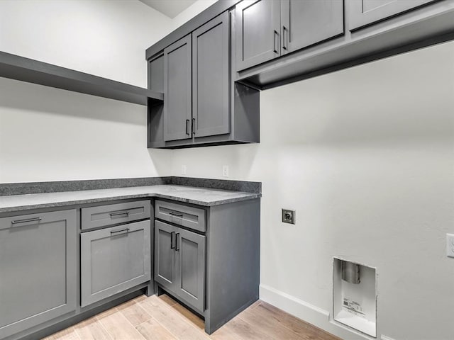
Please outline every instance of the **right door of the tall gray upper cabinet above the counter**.
[[194, 137], [230, 131], [229, 28], [228, 12], [224, 12], [192, 33]]

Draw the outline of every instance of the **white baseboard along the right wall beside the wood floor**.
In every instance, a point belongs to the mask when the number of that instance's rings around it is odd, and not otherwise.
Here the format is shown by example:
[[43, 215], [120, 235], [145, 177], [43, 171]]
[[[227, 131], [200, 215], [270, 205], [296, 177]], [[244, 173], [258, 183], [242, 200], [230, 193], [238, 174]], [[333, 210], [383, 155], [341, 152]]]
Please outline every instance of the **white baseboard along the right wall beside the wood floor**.
[[[341, 324], [336, 324], [330, 321], [330, 312], [323, 310], [320, 307], [311, 305], [311, 303], [299, 300], [287, 293], [281, 292], [267, 285], [260, 285], [260, 300], [278, 307], [284, 312], [294, 315], [299, 319], [309, 322], [316, 327], [319, 327], [331, 334], [334, 334], [344, 340], [370, 340], [369, 336], [365, 336], [343, 327]], [[394, 340], [386, 336], [382, 340]]]

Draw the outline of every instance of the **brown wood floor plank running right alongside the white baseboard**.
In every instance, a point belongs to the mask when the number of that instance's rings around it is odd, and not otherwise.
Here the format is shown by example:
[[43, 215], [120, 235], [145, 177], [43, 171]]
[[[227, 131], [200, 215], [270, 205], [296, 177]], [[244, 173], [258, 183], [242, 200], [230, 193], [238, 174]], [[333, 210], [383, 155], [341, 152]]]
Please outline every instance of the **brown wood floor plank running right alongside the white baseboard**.
[[299, 334], [303, 339], [323, 339], [323, 340], [342, 340], [333, 334], [329, 334], [312, 324], [308, 324], [292, 314], [288, 314], [279, 308], [262, 302], [254, 312], [261, 315], [262, 318], [271, 320], [275, 319], [285, 327], [292, 329], [294, 333]]

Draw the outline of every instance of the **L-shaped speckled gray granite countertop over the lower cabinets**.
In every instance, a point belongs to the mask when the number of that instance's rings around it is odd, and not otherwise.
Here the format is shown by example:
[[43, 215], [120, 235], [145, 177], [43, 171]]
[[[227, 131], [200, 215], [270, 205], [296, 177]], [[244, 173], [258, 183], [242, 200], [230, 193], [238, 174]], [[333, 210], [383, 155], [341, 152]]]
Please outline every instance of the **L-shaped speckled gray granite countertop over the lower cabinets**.
[[60, 193], [33, 193], [29, 195], [0, 196], [0, 213], [35, 208], [64, 207], [87, 203], [123, 200], [128, 198], [168, 198], [180, 202], [212, 206], [240, 200], [259, 198], [260, 193], [245, 193], [193, 186], [157, 185], [109, 188], [99, 190], [64, 191]]

